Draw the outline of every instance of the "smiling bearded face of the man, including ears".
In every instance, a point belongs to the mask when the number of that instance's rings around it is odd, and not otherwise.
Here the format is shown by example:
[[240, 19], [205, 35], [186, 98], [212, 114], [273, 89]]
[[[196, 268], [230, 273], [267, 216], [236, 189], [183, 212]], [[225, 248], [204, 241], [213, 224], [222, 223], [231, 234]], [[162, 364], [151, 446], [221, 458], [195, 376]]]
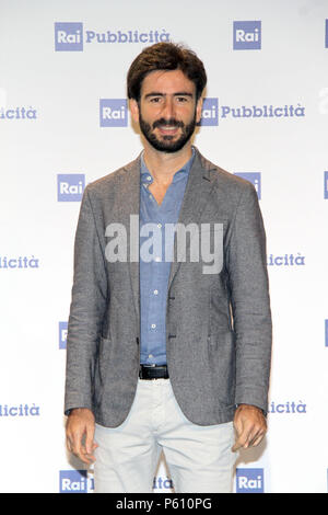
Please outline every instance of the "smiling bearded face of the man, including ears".
[[142, 82], [131, 113], [147, 141], [162, 152], [177, 152], [191, 138], [201, 116], [196, 88], [180, 70], [152, 71]]

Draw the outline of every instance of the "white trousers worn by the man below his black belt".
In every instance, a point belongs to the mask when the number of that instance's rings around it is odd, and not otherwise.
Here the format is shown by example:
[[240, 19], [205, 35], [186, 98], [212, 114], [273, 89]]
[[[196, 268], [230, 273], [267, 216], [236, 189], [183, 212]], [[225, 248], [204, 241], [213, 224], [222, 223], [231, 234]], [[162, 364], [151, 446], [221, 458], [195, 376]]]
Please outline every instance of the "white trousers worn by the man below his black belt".
[[192, 424], [177, 404], [169, 379], [139, 379], [126, 421], [96, 424], [96, 493], [152, 492], [161, 451], [176, 493], [230, 493], [236, 454], [233, 423]]

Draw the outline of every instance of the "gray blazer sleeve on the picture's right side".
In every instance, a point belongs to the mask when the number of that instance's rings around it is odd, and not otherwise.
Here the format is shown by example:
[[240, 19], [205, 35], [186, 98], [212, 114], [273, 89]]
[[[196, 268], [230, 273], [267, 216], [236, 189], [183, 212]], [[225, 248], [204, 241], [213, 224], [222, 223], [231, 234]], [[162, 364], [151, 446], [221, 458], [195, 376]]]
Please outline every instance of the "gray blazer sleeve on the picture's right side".
[[226, 256], [236, 344], [235, 403], [267, 412], [272, 320], [266, 232], [250, 183], [239, 196]]

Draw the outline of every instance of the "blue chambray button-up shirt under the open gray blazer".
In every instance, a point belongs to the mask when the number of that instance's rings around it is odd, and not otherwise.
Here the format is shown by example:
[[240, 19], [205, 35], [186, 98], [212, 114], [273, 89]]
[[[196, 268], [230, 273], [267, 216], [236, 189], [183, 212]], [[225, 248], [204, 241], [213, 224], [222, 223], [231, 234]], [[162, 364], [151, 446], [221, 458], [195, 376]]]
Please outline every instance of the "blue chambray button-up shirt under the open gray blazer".
[[[166, 298], [174, 243], [192, 157], [178, 170], [161, 205], [148, 190], [153, 178], [143, 154], [140, 169], [140, 363], [166, 364]], [[148, 226], [151, 224], [151, 226]], [[166, 230], [165, 225], [169, 227]], [[165, 260], [166, 256], [166, 260]]]

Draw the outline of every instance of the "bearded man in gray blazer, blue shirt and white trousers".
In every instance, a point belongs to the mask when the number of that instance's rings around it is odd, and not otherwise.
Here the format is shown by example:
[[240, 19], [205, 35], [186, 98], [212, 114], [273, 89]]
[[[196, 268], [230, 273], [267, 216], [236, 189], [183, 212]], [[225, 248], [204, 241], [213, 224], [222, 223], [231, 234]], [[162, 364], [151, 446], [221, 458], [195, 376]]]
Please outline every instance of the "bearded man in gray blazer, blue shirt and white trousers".
[[254, 186], [191, 145], [206, 82], [192, 52], [145, 48], [128, 72], [143, 152], [84, 192], [65, 409], [96, 492], [151, 491], [161, 450], [176, 492], [230, 492], [266, 433], [266, 236]]

